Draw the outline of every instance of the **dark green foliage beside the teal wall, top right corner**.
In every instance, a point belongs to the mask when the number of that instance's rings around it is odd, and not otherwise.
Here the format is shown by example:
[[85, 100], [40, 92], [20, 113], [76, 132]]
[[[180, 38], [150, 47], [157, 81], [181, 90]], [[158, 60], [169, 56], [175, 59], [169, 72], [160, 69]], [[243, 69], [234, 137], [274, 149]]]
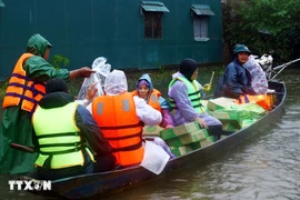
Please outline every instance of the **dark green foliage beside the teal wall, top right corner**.
[[300, 57], [300, 0], [243, 0], [223, 6], [223, 37], [231, 47], [247, 44], [253, 53], [281, 61]]

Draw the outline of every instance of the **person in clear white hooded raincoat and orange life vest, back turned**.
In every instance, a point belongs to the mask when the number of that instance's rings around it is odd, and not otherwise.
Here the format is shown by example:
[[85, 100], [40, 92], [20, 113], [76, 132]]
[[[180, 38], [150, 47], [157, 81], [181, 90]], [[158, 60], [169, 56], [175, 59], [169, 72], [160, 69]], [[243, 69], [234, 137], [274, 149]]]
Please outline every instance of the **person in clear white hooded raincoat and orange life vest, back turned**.
[[106, 79], [106, 96], [98, 96], [88, 106], [94, 120], [109, 141], [117, 167], [139, 164], [143, 159], [142, 122], [156, 126], [161, 113], [128, 92], [123, 71], [113, 70]]

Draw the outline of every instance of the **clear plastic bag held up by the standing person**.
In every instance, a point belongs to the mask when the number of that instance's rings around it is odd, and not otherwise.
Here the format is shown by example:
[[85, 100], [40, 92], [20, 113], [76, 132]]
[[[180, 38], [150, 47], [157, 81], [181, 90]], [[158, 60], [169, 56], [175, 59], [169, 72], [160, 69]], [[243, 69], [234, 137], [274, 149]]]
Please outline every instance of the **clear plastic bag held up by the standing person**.
[[110, 69], [111, 69], [111, 66], [106, 62], [107, 62], [107, 58], [104, 57], [99, 57], [92, 62], [92, 70], [94, 70], [96, 73], [92, 73], [90, 78], [84, 79], [79, 90], [79, 93], [77, 96], [78, 100], [84, 99], [88, 88], [94, 82], [98, 82], [94, 86], [94, 88], [98, 90], [96, 93], [96, 97], [104, 94], [103, 86], [106, 82], [106, 78], [110, 73]]

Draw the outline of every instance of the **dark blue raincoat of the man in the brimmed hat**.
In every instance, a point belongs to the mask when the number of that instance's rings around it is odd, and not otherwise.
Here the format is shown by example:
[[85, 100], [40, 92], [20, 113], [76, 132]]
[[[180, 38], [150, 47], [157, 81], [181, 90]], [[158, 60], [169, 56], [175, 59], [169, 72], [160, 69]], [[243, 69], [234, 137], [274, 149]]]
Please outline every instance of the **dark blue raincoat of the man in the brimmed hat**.
[[251, 74], [241, 66], [237, 57], [230, 62], [219, 79], [218, 88], [214, 92], [214, 98], [227, 97], [237, 99], [241, 94], [256, 94], [251, 87]]

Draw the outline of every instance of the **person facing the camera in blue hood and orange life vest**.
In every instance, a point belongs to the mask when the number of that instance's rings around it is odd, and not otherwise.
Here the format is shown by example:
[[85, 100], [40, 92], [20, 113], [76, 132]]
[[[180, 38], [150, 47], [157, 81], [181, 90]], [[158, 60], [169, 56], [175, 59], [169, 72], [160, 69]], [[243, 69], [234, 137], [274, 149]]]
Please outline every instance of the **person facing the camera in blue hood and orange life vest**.
[[159, 110], [162, 114], [161, 126], [163, 128], [173, 128], [174, 122], [170, 113], [169, 102], [161, 97], [160, 91], [153, 88], [151, 78], [149, 74], [143, 74], [137, 83], [137, 90], [133, 91], [133, 96], [138, 96], [147, 101], [152, 108]]

